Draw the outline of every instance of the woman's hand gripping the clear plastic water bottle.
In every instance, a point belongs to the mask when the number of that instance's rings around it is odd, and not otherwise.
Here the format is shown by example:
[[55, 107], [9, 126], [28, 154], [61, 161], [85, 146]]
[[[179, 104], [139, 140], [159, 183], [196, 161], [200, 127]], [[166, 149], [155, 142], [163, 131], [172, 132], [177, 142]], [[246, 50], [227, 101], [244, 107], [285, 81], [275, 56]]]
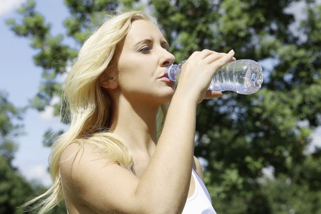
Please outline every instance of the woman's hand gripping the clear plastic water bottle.
[[208, 90], [208, 87], [217, 70], [227, 62], [236, 60], [233, 56], [233, 50], [228, 54], [207, 49], [195, 51], [182, 66], [176, 93], [183, 94], [196, 103], [203, 99], [221, 97], [221, 92]]

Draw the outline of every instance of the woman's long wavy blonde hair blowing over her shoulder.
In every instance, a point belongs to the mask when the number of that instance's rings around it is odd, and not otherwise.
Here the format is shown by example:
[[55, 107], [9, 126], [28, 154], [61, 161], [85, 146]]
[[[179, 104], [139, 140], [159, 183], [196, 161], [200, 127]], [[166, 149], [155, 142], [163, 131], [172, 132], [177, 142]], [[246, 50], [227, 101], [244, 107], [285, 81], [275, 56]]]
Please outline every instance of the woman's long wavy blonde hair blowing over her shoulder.
[[[110, 97], [100, 86], [100, 79], [117, 77], [115, 62], [117, 44], [126, 36], [134, 20], [156, 21], [141, 11], [123, 12], [109, 17], [84, 42], [64, 89], [64, 100], [70, 108], [70, 128], [52, 145], [49, 169], [53, 184], [47, 192], [28, 201], [28, 206], [38, 200], [35, 208], [46, 213], [63, 200], [59, 161], [64, 149], [71, 143], [93, 143], [104, 149], [108, 159], [114, 163], [133, 168], [132, 155], [119, 138], [108, 130], [110, 120]], [[160, 106], [157, 112], [157, 134], [159, 136], [169, 103]], [[63, 113], [63, 112], [62, 112]], [[79, 148], [80, 149], [80, 148]]]

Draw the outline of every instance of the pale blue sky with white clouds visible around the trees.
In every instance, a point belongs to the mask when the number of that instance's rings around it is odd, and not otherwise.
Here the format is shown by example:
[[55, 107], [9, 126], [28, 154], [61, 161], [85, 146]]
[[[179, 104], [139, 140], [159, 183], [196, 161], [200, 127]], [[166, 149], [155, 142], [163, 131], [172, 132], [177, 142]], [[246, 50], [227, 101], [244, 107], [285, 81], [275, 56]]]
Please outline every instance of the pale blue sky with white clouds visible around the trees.
[[[0, 90], [9, 94], [9, 101], [16, 107], [26, 106], [38, 92], [42, 72], [41, 68], [33, 63], [32, 57], [37, 51], [30, 47], [30, 40], [17, 37], [5, 24], [5, 20], [9, 18], [21, 20], [15, 10], [23, 2], [26, 0], [0, 0], [0, 29], [2, 32], [0, 34]], [[297, 18], [302, 16], [299, 10], [301, 6], [297, 5], [292, 8], [292, 11], [297, 11]], [[36, 10], [45, 16], [46, 23], [51, 24], [51, 32], [54, 36], [65, 33], [63, 21], [69, 16], [69, 12], [63, 0], [36, 0]], [[65, 41], [72, 42], [71, 40]], [[17, 166], [28, 180], [48, 186], [51, 183], [50, 175], [47, 173], [50, 148], [42, 145], [42, 139], [49, 128], [57, 130], [61, 127], [59, 119], [52, 116], [50, 107], [41, 113], [29, 109], [23, 119], [24, 128], [22, 130], [25, 134], [14, 139], [19, 149], [15, 154], [13, 165]], [[319, 144], [321, 128], [317, 129], [312, 137], [314, 138], [313, 145]]]

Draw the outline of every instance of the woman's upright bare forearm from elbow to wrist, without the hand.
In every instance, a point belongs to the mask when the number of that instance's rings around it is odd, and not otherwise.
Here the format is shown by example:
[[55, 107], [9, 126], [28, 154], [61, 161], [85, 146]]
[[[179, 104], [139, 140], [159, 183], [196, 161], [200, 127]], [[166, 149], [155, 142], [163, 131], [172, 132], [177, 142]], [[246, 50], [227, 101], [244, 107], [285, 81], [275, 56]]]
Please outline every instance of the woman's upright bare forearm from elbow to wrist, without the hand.
[[137, 187], [137, 195], [148, 196], [160, 209], [184, 208], [193, 165], [196, 106], [175, 93], [156, 150]]

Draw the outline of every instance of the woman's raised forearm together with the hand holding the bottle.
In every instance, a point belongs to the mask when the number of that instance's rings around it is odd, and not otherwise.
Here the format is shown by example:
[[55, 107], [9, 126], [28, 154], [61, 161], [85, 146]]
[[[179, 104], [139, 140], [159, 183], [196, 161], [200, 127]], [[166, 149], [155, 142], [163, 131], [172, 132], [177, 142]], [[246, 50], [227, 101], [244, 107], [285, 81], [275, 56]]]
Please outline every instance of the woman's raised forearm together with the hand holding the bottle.
[[[157, 198], [162, 213], [181, 213], [184, 209], [193, 165], [196, 106], [208, 92], [215, 71], [233, 55], [233, 51], [203, 50], [193, 53], [183, 65], [155, 153], [136, 191], [137, 195]], [[217, 94], [210, 91], [207, 96]], [[149, 192], [148, 186], [154, 191]]]

